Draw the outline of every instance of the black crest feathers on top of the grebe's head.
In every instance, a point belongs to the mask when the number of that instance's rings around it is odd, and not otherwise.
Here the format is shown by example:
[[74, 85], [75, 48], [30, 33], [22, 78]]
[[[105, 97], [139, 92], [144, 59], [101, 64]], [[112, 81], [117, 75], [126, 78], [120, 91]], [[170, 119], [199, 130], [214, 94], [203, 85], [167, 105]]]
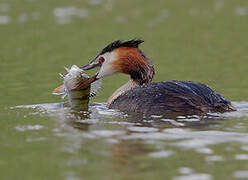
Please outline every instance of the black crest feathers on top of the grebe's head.
[[104, 54], [106, 52], [111, 52], [114, 49], [119, 48], [119, 47], [134, 47], [134, 48], [138, 48], [139, 47], [139, 44], [141, 44], [143, 42], [144, 41], [143, 40], [140, 40], [140, 39], [132, 39], [130, 41], [120, 41], [120, 40], [117, 40], [117, 41], [114, 41], [114, 42], [110, 43], [109, 45], [107, 45], [99, 53], [99, 55], [102, 55], [102, 54]]

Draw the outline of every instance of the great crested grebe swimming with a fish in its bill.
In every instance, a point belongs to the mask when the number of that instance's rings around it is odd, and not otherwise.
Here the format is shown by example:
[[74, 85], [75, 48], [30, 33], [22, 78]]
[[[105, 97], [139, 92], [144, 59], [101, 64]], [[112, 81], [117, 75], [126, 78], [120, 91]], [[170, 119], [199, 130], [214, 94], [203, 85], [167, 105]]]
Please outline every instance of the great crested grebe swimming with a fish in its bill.
[[[138, 48], [142, 40], [114, 41], [106, 46], [83, 70], [99, 67], [95, 76], [79, 88], [115, 74], [130, 80], [108, 99], [107, 106], [127, 113], [183, 115], [235, 111], [231, 102], [204, 84], [191, 81], [152, 82], [154, 68]], [[76, 89], [75, 89], [76, 90]]]

